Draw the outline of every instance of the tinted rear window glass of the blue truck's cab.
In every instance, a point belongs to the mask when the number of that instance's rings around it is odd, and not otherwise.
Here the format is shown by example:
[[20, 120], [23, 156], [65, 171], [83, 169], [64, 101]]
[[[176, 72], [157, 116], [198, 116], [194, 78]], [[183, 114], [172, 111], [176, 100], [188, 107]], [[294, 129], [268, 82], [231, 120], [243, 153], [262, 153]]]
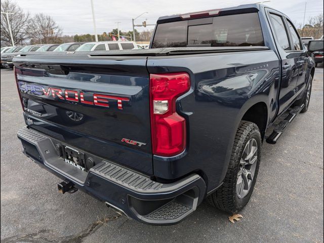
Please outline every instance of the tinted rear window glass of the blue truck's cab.
[[184, 20], [157, 25], [152, 47], [264, 46], [257, 13], [217, 16], [209, 24], [194, 23]]

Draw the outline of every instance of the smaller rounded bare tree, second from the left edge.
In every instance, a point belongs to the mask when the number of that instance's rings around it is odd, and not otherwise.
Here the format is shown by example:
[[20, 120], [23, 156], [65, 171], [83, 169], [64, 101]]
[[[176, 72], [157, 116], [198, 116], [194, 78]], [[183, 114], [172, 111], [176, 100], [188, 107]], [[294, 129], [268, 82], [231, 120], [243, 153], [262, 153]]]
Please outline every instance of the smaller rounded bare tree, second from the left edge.
[[32, 44], [61, 43], [62, 28], [51, 16], [36, 14], [28, 22], [27, 35]]

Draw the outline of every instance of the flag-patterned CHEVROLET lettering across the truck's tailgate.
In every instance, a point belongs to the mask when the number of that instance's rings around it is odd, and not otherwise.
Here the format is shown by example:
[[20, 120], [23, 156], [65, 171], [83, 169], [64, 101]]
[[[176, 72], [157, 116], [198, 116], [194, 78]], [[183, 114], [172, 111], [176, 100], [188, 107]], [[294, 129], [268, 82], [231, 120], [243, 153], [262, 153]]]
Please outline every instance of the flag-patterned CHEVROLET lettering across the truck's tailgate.
[[48, 99], [66, 100], [72, 102], [79, 102], [86, 105], [95, 105], [102, 107], [110, 107], [109, 101], [117, 101], [117, 108], [123, 109], [123, 104], [130, 104], [130, 99], [127, 97], [119, 97], [114, 95], [104, 95], [97, 93], [87, 93], [76, 90], [64, 90], [53, 87], [44, 87], [42, 85], [27, 84], [25, 82], [18, 82], [21, 92], [32, 95], [42, 96]]

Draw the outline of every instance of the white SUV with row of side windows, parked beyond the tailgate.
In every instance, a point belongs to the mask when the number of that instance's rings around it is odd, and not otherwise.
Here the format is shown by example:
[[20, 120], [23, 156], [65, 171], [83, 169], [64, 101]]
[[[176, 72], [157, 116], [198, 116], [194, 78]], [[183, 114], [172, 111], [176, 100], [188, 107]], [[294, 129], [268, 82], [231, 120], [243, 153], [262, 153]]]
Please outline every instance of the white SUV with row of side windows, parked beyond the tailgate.
[[138, 49], [135, 42], [89, 42], [76, 49], [76, 52], [85, 51], [111, 51]]

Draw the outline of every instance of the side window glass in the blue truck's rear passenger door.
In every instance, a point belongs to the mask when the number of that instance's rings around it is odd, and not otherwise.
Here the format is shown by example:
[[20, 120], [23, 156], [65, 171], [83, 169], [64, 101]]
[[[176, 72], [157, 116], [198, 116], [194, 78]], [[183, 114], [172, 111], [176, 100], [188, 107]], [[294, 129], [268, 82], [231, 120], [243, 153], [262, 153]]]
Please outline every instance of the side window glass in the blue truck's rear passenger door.
[[280, 16], [275, 14], [270, 14], [270, 19], [274, 28], [274, 33], [277, 38], [277, 42], [279, 43], [280, 47], [286, 51], [290, 50], [289, 39], [284, 21], [282, 21], [282, 18]]

